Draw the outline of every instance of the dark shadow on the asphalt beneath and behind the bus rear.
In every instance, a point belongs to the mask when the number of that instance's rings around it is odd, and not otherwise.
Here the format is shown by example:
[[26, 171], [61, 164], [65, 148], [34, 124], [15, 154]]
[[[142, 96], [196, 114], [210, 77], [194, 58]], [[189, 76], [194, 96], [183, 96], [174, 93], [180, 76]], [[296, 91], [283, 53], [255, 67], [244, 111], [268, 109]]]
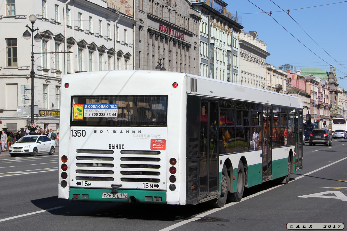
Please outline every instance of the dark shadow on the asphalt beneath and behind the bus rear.
[[121, 204], [111, 202], [70, 202], [57, 196], [31, 201], [35, 206], [49, 213], [61, 216], [91, 216], [136, 220], [179, 221], [190, 219], [196, 214], [211, 210], [206, 204], [198, 205], [158, 205], [158, 204]]

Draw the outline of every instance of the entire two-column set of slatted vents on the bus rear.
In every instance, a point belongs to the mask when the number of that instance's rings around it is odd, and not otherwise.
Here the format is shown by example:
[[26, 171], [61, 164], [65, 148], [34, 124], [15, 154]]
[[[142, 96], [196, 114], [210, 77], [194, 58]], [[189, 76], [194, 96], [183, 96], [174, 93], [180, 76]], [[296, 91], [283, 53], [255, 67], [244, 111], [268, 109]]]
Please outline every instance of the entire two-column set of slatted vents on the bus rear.
[[160, 151], [121, 150], [121, 157], [116, 157], [113, 150], [78, 149], [76, 152], [81, 153], [76, 156], [76, 180], [160, 182]]

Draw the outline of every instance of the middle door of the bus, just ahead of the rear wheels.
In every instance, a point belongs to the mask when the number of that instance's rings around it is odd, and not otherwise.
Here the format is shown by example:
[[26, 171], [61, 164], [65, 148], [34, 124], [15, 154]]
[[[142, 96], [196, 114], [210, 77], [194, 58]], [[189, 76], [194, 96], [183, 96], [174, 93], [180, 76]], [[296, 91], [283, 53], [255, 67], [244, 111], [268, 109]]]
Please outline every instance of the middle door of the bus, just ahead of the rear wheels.
[[272, 179], [272, 108], [263, 107], [262, 181]]

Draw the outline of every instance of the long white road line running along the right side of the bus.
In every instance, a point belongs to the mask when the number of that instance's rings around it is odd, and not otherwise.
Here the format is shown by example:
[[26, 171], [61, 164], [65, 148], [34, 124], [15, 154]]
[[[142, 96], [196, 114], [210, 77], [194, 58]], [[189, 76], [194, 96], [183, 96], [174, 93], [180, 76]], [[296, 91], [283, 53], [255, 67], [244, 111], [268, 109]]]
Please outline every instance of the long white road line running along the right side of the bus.
[[[305, 177], [305, 176], [308, 176], [308, 175], [310, 175], [310, 174], [313, 174], [314, 172], [317, 172], [317, 171], [319, 171], [319, 170], [322, 170], [322, 169], [324, 169], [324, 168], [327, 168], [327, 167], [329, 167], [329, 166], [331, 166], [331, 165], [333, 165], [333, 164], [335, 164], [335, 163], [338, 163], [338, 162], [340, 162], [340, 161], [342, 161], [342, 160], [346, 160], [346, 159], [347, 159], [347, 157], [342, 158], [342, 159], [337, 160], [337, 161], [335, 161], [335, 162], [333, 162], [333, 163], [330, 163], [329, 165], [325, 165], [325, 166], [323, 166], [323, 167], [321, 167], [321, 168], [319, 168], [319, 169], [316, 169], [316, 170], [313, 170], [313, 171], [311, 171], [311, 172], [308, 172], [308, 173], [305, 174], [305, 175], [299, 176], [299, 177], [295, 178], [294, 180], [289, 181], [289, 183], [291, 183], [291, 182], [293, 182], [293, 181], [295, 181], [295, 180], [298, 180], [298, 179], [300, 179], [300, 178], [303, 178], [303, 177]], [[260, 194], [266, 193], [266, 192], [268, 192], [268, 191], [270, 191], [270, 190], [272, 190], [272, 189], [274, 189], [274, 188], [278, 188], [278, 187], [280, 187], [280, 186], [282, 186], [282, 185], [277, 185], [277, 186], [274, 186], [274, 187], [272, 187], [272, 188], [269, 188], [269, 189], [266, 189], [266, 190], [264, 190], [264, 191], [261, 191], [261, 192], [259, 192], [259, 193], [255, 193], [255, 194], [253, 194], [253, 195], [249, 195], [249, 196], [247, 196], [247, 197], [245, 197], [245, 198], [242, 198], [240, 202], [243, 202], [243, 201], [245, 201], [245, 200], [247, 200], [247, 199], [249, 199], [249, 198], [258, 196], [258, 195], [260, 195]], [[207, 212], [205, 212], [205, 213], [198, 214], [198, 215], [196, 215], [195, 217], [193, 217], [192, 219], [178, 222], [178, 223], [176, 223], [176, 224], [170, 225], [170, 226], [168, 226], [168, 227], [166, 227], [166, 228], [164, 228], [164, 229], [161, 229], [161, 230], [159, 230], [159, 231], [170, 231], [170, 230], [173, 230], [173, 229], [175, 229], [175, 228], [177, 228], [177, 227], [179, 227], [179, 226], [182, 226], [182, 225], [187, 224], [187, 223], [192, 222], [192, 221], [199, 220], [199, 219], [201, 219], [202, 217], [205, 217], [205, 216], [207, 216], [207, 215], [210, 215], [210, 214], [212, 214], [212, 213], [214, 213], [214, 212], [218, 212], [219, 210], [222, 210], [222, 209], [224, 209], [224, 208], [228, 208], [228, 207], [230, 207], [230, 206], [232, 206], [232, 205], [235, 205], [235, 204], [238, 204], [238, 203], [240, 203], [240, 202], [232, 202], [232, 203], [226, 204], [226, 205], [225, 205], [224, 207], [222, 207], [222, 208], [214, 208], [213, 210], [207, 211]]]

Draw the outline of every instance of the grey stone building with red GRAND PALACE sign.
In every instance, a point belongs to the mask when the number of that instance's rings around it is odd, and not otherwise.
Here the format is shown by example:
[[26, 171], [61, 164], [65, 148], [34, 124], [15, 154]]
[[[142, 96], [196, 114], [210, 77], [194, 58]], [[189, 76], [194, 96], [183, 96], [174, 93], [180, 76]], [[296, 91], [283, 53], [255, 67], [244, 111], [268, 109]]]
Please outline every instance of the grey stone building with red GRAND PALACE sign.
[[199, 74], [200, 16], [191, 2], [135, 0], [134, 20], [134, 69]]

